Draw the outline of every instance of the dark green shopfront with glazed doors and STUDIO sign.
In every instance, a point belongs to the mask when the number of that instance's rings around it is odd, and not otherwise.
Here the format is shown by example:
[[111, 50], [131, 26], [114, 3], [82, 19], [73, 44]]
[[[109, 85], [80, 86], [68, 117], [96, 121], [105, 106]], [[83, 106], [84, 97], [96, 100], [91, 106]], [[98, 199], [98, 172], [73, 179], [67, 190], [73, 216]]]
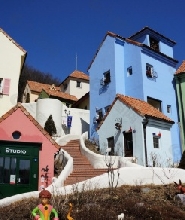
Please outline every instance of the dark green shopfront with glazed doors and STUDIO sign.
[[0, 144], [0, 199], [38, 190], [39, 148]]

